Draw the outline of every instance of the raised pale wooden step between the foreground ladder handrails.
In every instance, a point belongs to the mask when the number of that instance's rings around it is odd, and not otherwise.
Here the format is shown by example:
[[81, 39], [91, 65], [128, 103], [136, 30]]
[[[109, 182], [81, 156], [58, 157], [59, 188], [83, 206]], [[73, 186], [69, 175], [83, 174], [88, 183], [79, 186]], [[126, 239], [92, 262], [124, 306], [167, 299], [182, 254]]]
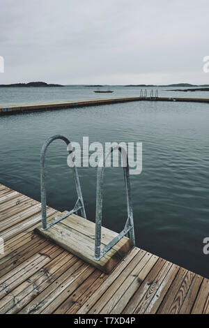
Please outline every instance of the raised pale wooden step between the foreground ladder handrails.
[[[63, 215], [63, 214], [62, 214]], [[81, 218], [83, 222], [84, 219]], [[69, 223], [69, 221], [68, 221]], [[95, 240], [93, 237], [89, 237], [88, 234], [83, 234], [83, 230], [79, 231], [79, 228], [71, 228], [69, 224], [65, 224], [65, 219], [56, 225], [52, 226], [47, 230], [42, 230], [37, 228], [35, 232], [38, 232], [43, 237], [54, 241], [59, 246], [63, 247], [70, 253], [76, 255], [78, 258], [82, 258], [85, 262], [90, 263], [93, 267], [96, 267], [105, 273], [110, 273], [114, 267], [120, 262], [120, 260], [130, 251], [132, 248], [132, 242], [128, 238], [123, 238], [116, 246], [111, 248], [107, 254], [105, 254], [99, 261], [94, 259], [94, 249], [95, 249]], [[88, 228], [92, 223], [88, 220], [85, 220], [85, 225]], [[94, 229], [95, 229], [95, 223]], [[83, 226], [82, 226], [83, 227]], [[87, 230], [87, 229], [86, 229]], [[111, 238], [113, 239], [113, 238]], [[105, 239], [103, 239], [104, 242]], [[102, 247], [104, 245], [102, 244]], [[79, 247], [78, 247], [79, 245]]]

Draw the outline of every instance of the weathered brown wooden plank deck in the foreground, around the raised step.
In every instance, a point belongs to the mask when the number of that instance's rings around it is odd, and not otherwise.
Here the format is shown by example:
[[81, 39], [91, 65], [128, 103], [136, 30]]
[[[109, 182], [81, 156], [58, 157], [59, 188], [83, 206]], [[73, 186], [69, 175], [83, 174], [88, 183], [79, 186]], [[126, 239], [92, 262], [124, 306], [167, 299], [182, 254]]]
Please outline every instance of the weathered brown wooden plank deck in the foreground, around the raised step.
[[104, 274], [34, 233], [40, 220], [40, 202], [0, 184], [0, 313], [209, 314], [208, 278], [137, 247]]

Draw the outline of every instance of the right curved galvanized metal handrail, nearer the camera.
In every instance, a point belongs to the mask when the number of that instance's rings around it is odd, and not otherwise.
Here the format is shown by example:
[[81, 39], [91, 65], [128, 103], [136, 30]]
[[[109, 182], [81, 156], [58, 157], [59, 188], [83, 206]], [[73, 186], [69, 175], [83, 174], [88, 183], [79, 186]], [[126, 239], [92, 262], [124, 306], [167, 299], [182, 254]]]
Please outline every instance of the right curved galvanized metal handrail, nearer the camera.
[[[125, 179], [125, 189], [127, 198], [127, 221], [124, 229], [112, 239], [107, 246], [101, 250], [101, 230], [102, 230], [102, 193], [103, 193], [103, 180], [104, 180], [104, 163], [112, 151], [118, 149], [123, 158], [123, 172]], [[123, 236], [129, 234], [132, 243], [135, 245], [134, 237], [134, 219], [132, 211], [132, 197], [130, 193], [130, 177], [129, 177], [129, 164], [127, 153], [121, 146], [111, 147], [106, 158], [101, 158], [98, 163], [98, 176], [97, 176], [97, 195], [96, 195], [96, 214], [95, 214], [95, 260], [100, 260], [102, 256], [107, 253]]]

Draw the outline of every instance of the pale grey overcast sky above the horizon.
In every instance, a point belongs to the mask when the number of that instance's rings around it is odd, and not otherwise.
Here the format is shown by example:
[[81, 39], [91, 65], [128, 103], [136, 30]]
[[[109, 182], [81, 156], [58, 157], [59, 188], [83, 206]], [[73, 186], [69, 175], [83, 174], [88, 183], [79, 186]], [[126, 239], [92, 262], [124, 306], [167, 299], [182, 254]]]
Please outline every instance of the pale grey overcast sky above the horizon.
[[208, 0], [0, 0], [0, 84], [209, 84]]

